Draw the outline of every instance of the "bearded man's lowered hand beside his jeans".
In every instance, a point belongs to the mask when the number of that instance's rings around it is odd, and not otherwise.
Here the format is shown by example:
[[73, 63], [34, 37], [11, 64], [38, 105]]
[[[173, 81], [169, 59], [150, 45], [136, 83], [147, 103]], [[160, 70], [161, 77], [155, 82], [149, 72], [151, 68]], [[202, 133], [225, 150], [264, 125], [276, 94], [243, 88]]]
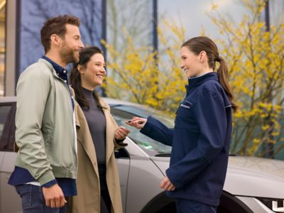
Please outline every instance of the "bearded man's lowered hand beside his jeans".
[[58, 184], [51, 187], [43, 187], [43, 196], [45, 197], [46, 206], [51, 208], [60, 208], [67, 203]]

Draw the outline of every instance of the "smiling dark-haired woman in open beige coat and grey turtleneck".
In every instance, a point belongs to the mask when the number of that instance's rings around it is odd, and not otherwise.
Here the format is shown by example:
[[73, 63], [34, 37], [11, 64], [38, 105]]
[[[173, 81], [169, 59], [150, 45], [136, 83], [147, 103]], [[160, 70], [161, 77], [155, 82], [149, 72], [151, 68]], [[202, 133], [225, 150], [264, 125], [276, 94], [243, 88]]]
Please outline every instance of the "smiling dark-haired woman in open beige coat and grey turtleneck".
[[122, 212], [119, 172], [114, 149], [129, 130], [117, 126], [94, 88], [106, 75], [104, 56], [97, 47], [84, 48], [70, 75], [75, 92], [78, 175], [77, 196], [68, 200], [68, 212]]

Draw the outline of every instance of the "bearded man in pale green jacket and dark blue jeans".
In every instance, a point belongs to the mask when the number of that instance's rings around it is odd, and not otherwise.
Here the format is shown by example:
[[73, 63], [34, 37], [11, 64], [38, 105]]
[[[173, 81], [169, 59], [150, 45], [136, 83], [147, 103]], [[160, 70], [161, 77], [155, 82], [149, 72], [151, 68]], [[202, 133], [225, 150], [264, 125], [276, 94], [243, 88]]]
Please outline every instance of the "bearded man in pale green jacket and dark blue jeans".
[[16, 144], [9, 184], [22, 198], [23, 212], [65, 212], [65, 197], [77, 195], [74, 102], [65, 67], [79, 62], [84, 47], [80, 21], [50, 18], [41, 28], [45, 56], [29, 66], [17, 84]]

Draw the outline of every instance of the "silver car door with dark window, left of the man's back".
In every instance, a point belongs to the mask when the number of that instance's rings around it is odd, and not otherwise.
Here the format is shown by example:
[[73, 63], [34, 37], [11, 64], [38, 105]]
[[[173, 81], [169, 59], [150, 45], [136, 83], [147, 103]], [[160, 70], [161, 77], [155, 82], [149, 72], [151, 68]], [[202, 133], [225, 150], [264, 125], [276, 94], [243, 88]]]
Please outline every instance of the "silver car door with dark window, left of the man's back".
[[13, 151], [15, 141], [16, 102], [0, 103], [0, 212], [16, 213], [21, 211], [21, 199], [16, 190], [8, 185], [14, 168], [16, 153]]

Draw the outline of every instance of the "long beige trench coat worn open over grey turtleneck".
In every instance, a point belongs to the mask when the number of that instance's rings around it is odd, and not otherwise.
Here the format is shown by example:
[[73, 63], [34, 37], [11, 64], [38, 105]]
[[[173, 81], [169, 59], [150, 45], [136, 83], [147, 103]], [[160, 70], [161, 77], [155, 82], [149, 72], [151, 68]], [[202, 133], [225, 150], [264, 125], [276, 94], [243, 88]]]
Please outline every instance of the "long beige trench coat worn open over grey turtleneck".
[[[117, 144], [114, 141], [114, 133], [117, 129], [116, 121], [110, 114], [109, 105], [100, 102], [106, 118], [106, 164], [107, 164], [107, 187], [111, 198], [113, 213], [122, 213], [121, 190], [119, 184], [119, 172], [114, 157], [114, 149], [126, 146], [125, 143]], [[94, 118], [95, 119], [95, 118]], [[72, 213], [99, 213], [100, 212], [100, 187], [97, 156], [92, 141], [87, 120], [80, 106], [75, 104], [75, 120], [77, 126], [77, 196], [67, 200], [67, 212]]]

